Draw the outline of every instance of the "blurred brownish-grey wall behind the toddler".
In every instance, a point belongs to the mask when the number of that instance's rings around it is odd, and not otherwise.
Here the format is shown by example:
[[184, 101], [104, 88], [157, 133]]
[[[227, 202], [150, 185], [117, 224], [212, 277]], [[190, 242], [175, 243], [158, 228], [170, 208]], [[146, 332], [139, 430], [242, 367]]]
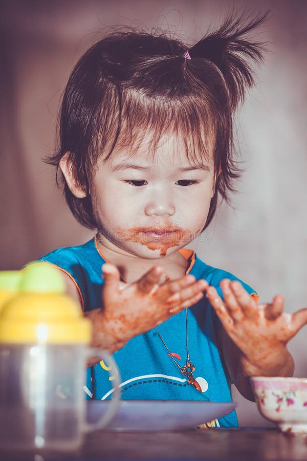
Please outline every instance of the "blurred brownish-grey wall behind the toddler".
[[[80, 55], [110, 26], [153, 26], [188, 43], [232, 8], [271, 10], [260, 29], [270, 52], [258, 85], [236, 120], [245, 174], [205, 235], [193, 243], [208, 264], [276, 293], [294, 311], [307, 306], [307, 2], [304, 0], [0, 0], [0, 270], [19, 268], [92, 233], [72, 217], [55, 172], [42, 158], [55, 145], [59, 101]], [[307, 326], [290, 343], [296, 376], [307, 376]], [[241, 425], [263, 426], [255, 404], [240, 397]]]

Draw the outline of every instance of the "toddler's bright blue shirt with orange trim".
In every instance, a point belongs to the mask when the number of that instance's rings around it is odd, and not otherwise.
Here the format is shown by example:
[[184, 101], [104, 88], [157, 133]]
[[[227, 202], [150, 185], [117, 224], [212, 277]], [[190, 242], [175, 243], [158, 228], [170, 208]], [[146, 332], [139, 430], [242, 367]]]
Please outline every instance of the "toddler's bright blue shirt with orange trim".
[[[220, 281], [224, 278], [239, 280], [232, 274], [211, 267], [201, 261], [191, 250], [180, 250], [189, 261], [187, 272], [196, 279], [205, 279], [222, 296]], [[101, 307], [103, 279], [101, 266], [105, 263], [96, 239], [84, 245], [58, 248], [41, 258], [57, 265], [76, 284], [84, 311]], [[188, 263], [187, 263], [188, 264]], [[239, 280], [240, 281], [240, 280]], [[251, 294], [251, 287], [240, 281]], [[206, 298], [187, 310], [188, 347], [194, 378], [202, 392], [190, 385], [188, 379], [169, 356], [155, 328], [132, 338], [113, 355], [120, 370], [122, 399], [133, 400], [199, 400], [212, 402], [231, 401], [230, 377], [218, 349], [221, 322]], [[180, 366], [185, 365], [186, 312], [181, 311], [158, 327], [170, 353]], [[87, 398], [104, 400], [112, 394], [112, 373], [109, 365], [101, 361], [87, 369]], [[237, 426], [235, 411], [215, 420], [217, 426]]]

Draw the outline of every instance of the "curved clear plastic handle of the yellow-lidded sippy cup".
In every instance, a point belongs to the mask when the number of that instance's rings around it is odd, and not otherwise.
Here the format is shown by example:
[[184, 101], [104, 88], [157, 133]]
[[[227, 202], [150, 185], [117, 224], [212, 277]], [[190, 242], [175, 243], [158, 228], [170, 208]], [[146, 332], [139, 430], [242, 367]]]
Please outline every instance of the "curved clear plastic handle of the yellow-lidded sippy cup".
[[118, 370], [118, 367], [117, 367], [116, 363], [114, 362], [111, 355], [108, 352], [106, 352], [105, 350], [98, 349], [98, 348], [97, 349], [96, 348], [87, 348], [86, 357], [87, 358], [89, 358], [89, 357], [99, 357], [101, 360], [106, 361], [108, 363], [107, 371], [109, 371], [109, 374], [111, 374], [110, 373], [111, 371], [112, 371], [112, 373], [114, 373], [112, 375], [112, 380], [111, 380], [111, 383], [112, 383], [112, 386], [113, 386], [113, 390], [111, 391], [112, 392], [112, 399], [108, 400], [108, 405], [107, 405], [106, 411], [103, 413], [101, 418], [99, 418], [99, 420], [96, 423], [87, 423], [87, 422], [85, 422], [83, 424], [84, 432], [91, 432], [93, 430], [103, 429], [104, 427], [106, 427], [109, 423], [111, 423], [114, 416], [116, 415], [116, 413], [118, 411], [118, 408], [119, 408], [119, 404], [120, 404], [120, 389], [119, 389], [119, 385], [120, 385], [121, 380], [120, 380], [120, 374], [119, 374], [119, 370]]

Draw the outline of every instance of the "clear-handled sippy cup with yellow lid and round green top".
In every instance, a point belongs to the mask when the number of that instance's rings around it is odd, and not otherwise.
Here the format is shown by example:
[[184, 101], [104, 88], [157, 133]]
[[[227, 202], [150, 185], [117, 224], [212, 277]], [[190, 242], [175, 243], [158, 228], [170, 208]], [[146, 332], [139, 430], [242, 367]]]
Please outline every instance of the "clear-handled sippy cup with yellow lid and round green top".
[[87, 346], [91, 322], [64, 294], [57, 269], [32, 263], [19, 279], [15, 296], [0, 307], [0, 449], [74, 450], [84, 432], [115, 416], [119, 373], [101, 420], [85, 422], [86, 359], [117, 368], [107, 352]]

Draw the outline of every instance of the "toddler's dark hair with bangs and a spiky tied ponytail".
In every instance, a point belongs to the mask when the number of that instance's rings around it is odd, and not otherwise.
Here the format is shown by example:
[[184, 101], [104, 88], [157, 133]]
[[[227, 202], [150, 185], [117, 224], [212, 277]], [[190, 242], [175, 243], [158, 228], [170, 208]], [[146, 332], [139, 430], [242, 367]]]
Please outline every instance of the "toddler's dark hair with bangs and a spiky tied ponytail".
[[[119, 142], [137, 149], [147, 131], [152, 133], [153, 151], [162, 134], [184, 135], [190, 159], [195, 152], [206, 155], [207, 138], [214, 135], [216, 187], [207, 227], [218, 195], [229, 201], [233, 180], [240, 174], [232, 118], [254, 83], [248, 59], [259, 62], [264, 51], [263, 44], [246, 34], [266, 16], [231, 15], [191, 48], [166, 33], [117, 30], [80, 58], [63, 94], [59, 148], [47, 162], [58, 166], [70, 153], [87, 196], [76, 198], [65, 181], [64, 193], [81, 224], [97, 228], [88, 192], [99, 156], [111, 156]], [[191, 59], [184, 57], [187, 49]]]

